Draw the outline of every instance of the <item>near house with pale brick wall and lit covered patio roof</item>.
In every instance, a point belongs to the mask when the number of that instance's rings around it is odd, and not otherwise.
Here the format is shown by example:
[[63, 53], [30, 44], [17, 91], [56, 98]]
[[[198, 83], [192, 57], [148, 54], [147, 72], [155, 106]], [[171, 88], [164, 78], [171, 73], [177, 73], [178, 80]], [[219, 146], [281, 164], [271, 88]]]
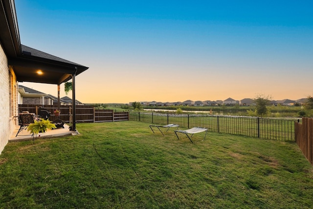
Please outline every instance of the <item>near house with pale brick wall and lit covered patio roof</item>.
[[[54, 84], [60, 95], [60, 85], [72, 79], [75, 87], [75, 76], [88, 67], [22, 45], [14, 0], [1, 0], [0, 31], [1, 153], [18, 125], [19, 82]], [[72, 93], [75, 100], [75, 91]], [[76, 131], [75, 111], [72, 118]]]

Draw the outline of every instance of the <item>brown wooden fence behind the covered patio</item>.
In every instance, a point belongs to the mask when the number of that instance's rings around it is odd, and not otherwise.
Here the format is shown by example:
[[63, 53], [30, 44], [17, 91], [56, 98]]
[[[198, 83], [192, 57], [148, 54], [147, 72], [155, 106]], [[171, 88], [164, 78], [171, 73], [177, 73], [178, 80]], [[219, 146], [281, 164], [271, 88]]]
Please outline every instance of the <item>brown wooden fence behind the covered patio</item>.
[[[19, 105], [19, 113], [22, 111], [28, 111], [29, 113], [39, 113], [38, 105]], [[56, 105], [45, 105], [44, 109], [51, 112], [49, 120], [53, 121], [56, 119], [53, 112], [55, 109], [59, 109]], [[66, 123], [69, 123], [69, 114], [72, 114], [72, 106], [61, 105], [60, 107], [61, 115], [59, 119], [64, 120]], [[129, 120], [128, 112], [114, 112], [113, 110], [98, 110], [93, 106], [87, 105], [77, 105], [76, 106], [76, 122], [77, 123], [96, 123], [96, 122], [112, 122], [112, 121], [122, 121]]]

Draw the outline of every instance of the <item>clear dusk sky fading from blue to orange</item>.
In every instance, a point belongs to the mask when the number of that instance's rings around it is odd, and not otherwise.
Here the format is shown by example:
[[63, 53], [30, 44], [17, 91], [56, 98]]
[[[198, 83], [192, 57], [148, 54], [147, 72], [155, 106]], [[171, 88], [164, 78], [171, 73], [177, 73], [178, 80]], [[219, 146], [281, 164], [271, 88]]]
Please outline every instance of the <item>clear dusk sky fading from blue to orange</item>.
[[[76, 77], [83, 103], [313, 95], [312, 0], [15, 0], [15, 6], [23, 45], [89, 67]], [[20, 84], [57, 95], [56, 85]]]

